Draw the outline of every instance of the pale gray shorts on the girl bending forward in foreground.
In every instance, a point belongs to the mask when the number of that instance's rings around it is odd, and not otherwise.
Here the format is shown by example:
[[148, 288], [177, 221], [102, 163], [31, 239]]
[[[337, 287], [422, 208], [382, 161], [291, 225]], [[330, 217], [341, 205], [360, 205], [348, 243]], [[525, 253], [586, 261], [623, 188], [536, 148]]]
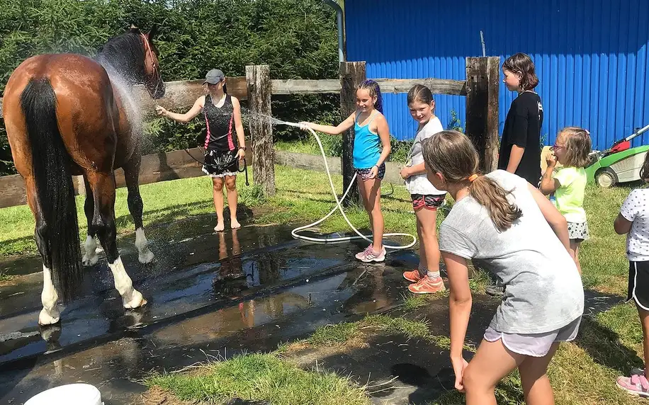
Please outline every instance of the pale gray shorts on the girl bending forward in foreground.
[[543, 357], [548, 354], [555, 342], [570, 342], [575, 340], [582, 317], [575, 319], [563, 328], [546, 333], [504, 333], [488, 327], [485, 331], [485, 341], [502, 340], [507, 349], [520, 355]]

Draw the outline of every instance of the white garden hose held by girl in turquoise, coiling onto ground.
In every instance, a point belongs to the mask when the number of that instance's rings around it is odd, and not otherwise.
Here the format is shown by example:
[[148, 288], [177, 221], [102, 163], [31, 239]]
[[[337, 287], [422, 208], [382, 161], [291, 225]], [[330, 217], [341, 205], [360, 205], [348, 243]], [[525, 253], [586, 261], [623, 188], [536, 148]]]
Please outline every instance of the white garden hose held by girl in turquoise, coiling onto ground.
[[[282, 121], [281, 122], [284, 125], [289, 125], [291, 127], [300, 127], [299, 124], [296, 124], [295, 122], [286, 122]], [[322, 217], [322, 219], [318, 219], [316, 222], [313, 222], [312, 224], [305, 225], [303, 227], [298, 227], [293, 229], [293, 231], [290, 232], [290, 234], [295, 238], [295, 239], [302, 239], [305, 241], [312, 241], [312, 242], [325, 242], [325, 243], [335, 243], [335, 242], [345, 242], [345, 241], [351, 241], [354, 239], [365, 239], [366, 241], [372, 243], [372, 239], [369, 239], [372, 235], [363, 235], [361, 232], [359, 232], [358, 229], [354, 227], [354, 225], [349, 222], [349, 219], [345, 215], [344, 210], [342, 209], [342, 201], [344, 201], [345, 197], [349, 193], [349, 190], [351, 190], [351, 186], [354, 186], [354, 181], [356, 180], [357, 174], [354, 173], [354, 178], [351, 179], [351, 183], [349, 183], [349, 186], [345, 190], [345, 193], [342, 195], [342, 198], [338, 200], [338, 195], [336, 194], [336, 188], [334, 188], [334, 181], [332, 180], [332, 174], [329, 172], [329, 165], [327, 164], [327, 155], [325, 154], [325, 149], [322, 147], [322, 142], [320, 142], [320, 137], [317, 136], [314, 130], [311, 128], [308, 128], [308, 130], [311, 132], [311, 135], [315, 137], [315, 140], [317, 141], [318, 146], [320, 147], [320, 153], [322, 153], [322, 160], [325, 161], [325, 171], [327, 173], [327, 178], [329, 178], [329, 186], [332, 188], [332, 195], [334, 195], [334, 200], [336, 200], [336, 206], [333, 207], [331, 211], [329, 211], [329, 214], [325, 215], [325, 217]], [[313, 238], [310, 236], [303, 236], [298, 234], [298, 232], [304, 231], [305, 229], [309, 229], [312, 227], [315, 227], [317, 224], [320, 224], [321, 222], [324, 222], [325, 219], [331, 217], [331, 215], [336, 212], [336, 210], [339, 210], [342, 216], [344, 217], [345, 221], [349, 225], [351, 229], [356, 232], [357, 235], [359, 236], [342, 236], [342, 237], [329, 237], [329, 238]], [[388, 249], [410, 249], [414, 244], [417, 243], [417, 238], [414, 237], [414, 235], [411, 234], [402, 234], [402, 233], [393, 233], [393, 234], [383, 234], [383, 237], [385, 236], [408, 236], [412, 238], [412, 242], [407, 245], [388, 245], [388, 244], [383, 244]]]

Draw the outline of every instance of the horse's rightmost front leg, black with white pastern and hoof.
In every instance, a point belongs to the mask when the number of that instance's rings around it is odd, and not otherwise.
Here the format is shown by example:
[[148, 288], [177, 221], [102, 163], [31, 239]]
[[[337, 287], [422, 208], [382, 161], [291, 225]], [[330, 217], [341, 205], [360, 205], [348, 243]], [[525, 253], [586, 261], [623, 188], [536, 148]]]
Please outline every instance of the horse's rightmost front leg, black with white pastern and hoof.
[[140, 195], [140, 164], [142, 156], [135, 152], [127, 164], [123, 165], [124, 179], [128, 188], [128, 210], [135, 222], [135, 247], [137, 247], [138, 260], [142, 264], [150, 263], [154, 256], [149, 250], [149, 242], [145, 236], [145, 229], [142, 224], [142, 212], [144, 204]]

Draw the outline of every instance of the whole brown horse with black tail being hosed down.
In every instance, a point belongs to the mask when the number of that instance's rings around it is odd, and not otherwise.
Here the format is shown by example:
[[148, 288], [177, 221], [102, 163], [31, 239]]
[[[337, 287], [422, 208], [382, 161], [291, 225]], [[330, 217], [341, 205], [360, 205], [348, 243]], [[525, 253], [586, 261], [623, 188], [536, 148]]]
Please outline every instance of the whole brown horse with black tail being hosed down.
[[124, 169], [128, 207], [135, 222], [140, 261], [151, 261], [142, 230], [140, 130], [130, 91], [144, 84], [152, 98], [164, 96], [153, 45], [155, 28], [137, 28], [109, 40], [95, 59], [73, 54], [38, 55], [11, 74], [3, 114], [13, 162], [25, 179], [43, 258], [41, 325], [56, 324], [58, 287], [71, 300], [83, 278], [72, 176], [84, 176], [89, 240], [84, 264], [96, 263], [98, 236], [125, 308], [146, 304], [132, 286], [115, 241], [115, 178]]

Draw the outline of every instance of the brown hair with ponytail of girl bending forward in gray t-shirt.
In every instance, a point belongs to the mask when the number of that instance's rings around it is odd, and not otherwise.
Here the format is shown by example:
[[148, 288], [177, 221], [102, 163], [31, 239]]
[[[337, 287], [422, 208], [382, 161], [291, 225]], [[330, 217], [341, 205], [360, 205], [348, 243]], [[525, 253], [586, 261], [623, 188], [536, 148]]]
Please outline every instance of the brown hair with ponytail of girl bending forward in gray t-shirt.
[[424, 161], [431, 171], [441, 173], [446, 183], [466, 183], [469, 194], [489, 212], [499, 232], [512, 227], [523, 212], [509, 203], [500, 184], [486, 176], [478, 176], [478, 152], [470, 139], [456, 131], [441, 131], [424, 141]]

